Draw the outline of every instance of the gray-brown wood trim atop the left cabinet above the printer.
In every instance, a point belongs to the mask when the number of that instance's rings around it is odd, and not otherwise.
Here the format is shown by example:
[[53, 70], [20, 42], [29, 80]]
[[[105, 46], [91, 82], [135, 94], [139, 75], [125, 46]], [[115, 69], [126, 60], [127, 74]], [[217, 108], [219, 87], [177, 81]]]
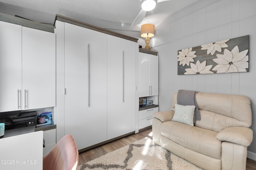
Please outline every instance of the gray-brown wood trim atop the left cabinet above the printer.
[[10, 15], [3, 14], [3, 13], [0, 13], [0, 21], [14, 23], [17, 25], [21, 25], [23, 27], [39, 29], [39, 30], [47, 31], [47, 32], [51, 32], [51, 33], [54, 33], [54, 29], [55, 29], [55, 27], [51, 26], [51, 25], [47, 25], [44, 23], [39, 23], [39, 22], [31, 21], [31, 20], [26, 20], [24, 18], [10, 16]]

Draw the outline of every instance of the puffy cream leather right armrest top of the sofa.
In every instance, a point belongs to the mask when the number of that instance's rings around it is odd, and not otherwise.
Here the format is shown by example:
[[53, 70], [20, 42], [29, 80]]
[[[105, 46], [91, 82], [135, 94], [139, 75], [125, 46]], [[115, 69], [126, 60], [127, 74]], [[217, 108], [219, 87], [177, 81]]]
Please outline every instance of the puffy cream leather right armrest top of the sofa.
[[227, 141], [248, 147], [252, 143], [253, 132], [248, 127], [227, 127], [220, 131], [216, 138], [219, 141]]

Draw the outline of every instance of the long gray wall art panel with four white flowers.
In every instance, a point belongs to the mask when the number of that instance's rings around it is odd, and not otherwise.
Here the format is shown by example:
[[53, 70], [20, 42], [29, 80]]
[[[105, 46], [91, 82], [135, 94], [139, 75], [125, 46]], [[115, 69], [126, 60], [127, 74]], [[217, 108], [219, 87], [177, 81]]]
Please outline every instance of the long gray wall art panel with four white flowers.
[[178, 51], [178, 75], [249, 72], [249, 35]]

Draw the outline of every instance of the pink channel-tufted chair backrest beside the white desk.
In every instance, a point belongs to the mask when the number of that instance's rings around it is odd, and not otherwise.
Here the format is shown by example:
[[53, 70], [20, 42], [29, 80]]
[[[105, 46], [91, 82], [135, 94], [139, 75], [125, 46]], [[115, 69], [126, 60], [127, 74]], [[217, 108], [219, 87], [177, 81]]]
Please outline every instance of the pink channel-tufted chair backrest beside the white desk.
[[78, 150], [72, 135], [65, 135], [49, 154], [43, 157], [43, 170], [76, 170]]

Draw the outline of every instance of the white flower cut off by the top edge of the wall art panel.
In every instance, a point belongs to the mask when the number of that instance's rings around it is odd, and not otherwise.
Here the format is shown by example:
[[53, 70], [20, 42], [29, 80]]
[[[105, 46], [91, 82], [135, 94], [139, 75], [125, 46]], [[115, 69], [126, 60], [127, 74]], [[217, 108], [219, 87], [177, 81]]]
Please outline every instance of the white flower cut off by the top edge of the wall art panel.
[[217, 41], [215, 43], [209, 43], [205, 45], [201, 45], [201, 50], [207, 50], [207, 55], [211, 53], [211, 55], [214, 55], [216, 51], [222, 52], [222, 48], [228, 47], [226, 42], [228, 42], [230, 39], [225, 39], [222, 41]]

